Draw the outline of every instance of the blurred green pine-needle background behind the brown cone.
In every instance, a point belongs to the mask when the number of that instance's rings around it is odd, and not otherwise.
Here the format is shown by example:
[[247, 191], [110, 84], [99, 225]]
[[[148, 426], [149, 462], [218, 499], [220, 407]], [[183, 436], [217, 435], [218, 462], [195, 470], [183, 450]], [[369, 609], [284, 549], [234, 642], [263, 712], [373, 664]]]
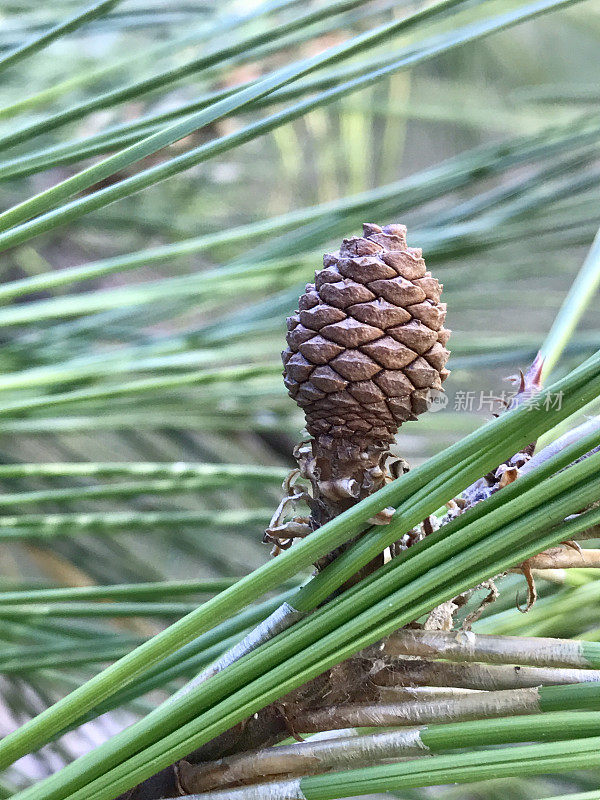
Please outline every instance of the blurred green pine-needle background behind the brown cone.
[[[444, 283], [453, 330], [448, 405], [406, 424], [397, 452], [416, 465], [500, 410], [505, 378], [535, 355], [599, 221], [600, 8], [547, 2], [542, 10], [553, 13], [494, 32], [503, 15], [517, 21], [534, 5], [442, 10], [92, 181], [74, 203], [174, 165], [167, 180], [51, 219], [39, 235], [11, 239], [20, 218], [0, 217], [0, 588], [227, 580], [268, 558], [261, 532], [303, 424], [281, 381], [285, 317], [323, 252], [363, 221], [408, 226], [409, 244]], [[43, 197], [206, 98], [419, 8], [115, 4], [2, 72], [0, 206]], [[65, 0], [5, 0], [0, 68], [14, 48], [80, 10]], [[485, 25], [492, 35], [479, 38]], [[323, 102], [322, 92], [401, 55], [402, 69]], [[307, 108], [295, 120], [237, 142], [296, 102]], [[177, 166], [210, 142], [221, 152]], [[22, 219], [41, 211], [32, 206]], [[554, 374], [599, 344], [593, 301]], [[18, 467], [37, 463], [49, 466]], [[507, 581], [498, 607], [515, 632], [595, 636], [594, 607], [568, 620], [559, 609], [524, 619], [514, 610], [517, 585]], [[118, 617], [106, 603], [33, 601], [11, 616], [0, 598], [2, 727], [205, 595], [156, 590]], [[9, 783], [54, 771], [153, 702], [67, 735], [23, 760]], [[518, 800], [597, 783], [582, 773], [402, 796]]]

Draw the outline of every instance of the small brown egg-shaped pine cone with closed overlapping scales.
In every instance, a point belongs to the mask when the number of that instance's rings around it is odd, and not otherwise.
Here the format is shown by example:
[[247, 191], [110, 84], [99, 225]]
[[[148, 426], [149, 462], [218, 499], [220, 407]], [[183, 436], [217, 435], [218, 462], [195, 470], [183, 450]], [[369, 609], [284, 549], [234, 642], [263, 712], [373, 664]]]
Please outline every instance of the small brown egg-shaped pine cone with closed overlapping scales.
[[365, 224], [323, 265], [288, 319], [284, 383], [315, 438], [389, 444], [449, 374], [442, 286], [404, 225]]

